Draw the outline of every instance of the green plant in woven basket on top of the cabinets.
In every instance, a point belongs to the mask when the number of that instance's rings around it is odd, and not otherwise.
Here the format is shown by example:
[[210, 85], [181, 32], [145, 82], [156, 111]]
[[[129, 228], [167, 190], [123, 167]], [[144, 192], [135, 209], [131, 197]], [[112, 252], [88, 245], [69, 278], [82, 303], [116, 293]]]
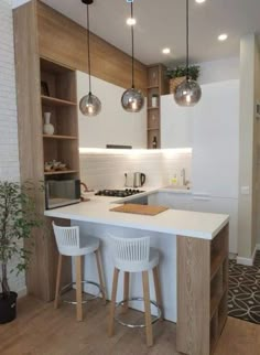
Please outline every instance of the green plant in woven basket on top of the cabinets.
[[[188, 66], [188, 77], [193, 80], [197, 80], [199, 76], [201, 67], [198, 65]], [[174, 69], [167, 69], [166, 76], [170, 79], [170, 93], [174, 94], [176, 87], [182, 84], [187, 76], [186, 66], [176, 66]]]

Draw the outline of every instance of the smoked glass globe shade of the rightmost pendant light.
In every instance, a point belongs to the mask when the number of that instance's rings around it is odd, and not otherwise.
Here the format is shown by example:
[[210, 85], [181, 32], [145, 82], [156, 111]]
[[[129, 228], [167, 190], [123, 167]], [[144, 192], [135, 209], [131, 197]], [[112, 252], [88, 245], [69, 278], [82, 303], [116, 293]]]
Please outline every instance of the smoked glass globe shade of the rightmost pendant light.
[[174, 94], [174, 99], [178, 106], [195, 106], [201, 97], [201, 86], [192, 79], [186, 79], [178, 85]]

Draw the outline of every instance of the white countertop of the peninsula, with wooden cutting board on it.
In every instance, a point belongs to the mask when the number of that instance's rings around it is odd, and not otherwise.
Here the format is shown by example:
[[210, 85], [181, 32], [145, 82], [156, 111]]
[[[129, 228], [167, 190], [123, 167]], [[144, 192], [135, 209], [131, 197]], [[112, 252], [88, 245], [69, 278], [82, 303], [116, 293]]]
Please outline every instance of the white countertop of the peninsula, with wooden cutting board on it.
[[[166, 189], [167, 192], [191, 193], [191, 191]], [[141, 197], [155, 192], [162, 192], [165, 189], [145, 189], [142, 194], [136, 195]], [[65, 218], [72, 220], [91, 222], [105, 225], [113, 225], [127, 228], [137, 228], [143, 230], [153, 230], [173, 235], [213, 239], [218, 232], [229, 222], [228, 215], [199, 213], [192, 211], [167, 209], [156, 216], [144, 216], [109, 209], [119, 206], [120, 202], [129, 201], [133, 196], [126, 198], [95, 196], [88, 193], [88, 202], [45, 211], [45, 216]]]

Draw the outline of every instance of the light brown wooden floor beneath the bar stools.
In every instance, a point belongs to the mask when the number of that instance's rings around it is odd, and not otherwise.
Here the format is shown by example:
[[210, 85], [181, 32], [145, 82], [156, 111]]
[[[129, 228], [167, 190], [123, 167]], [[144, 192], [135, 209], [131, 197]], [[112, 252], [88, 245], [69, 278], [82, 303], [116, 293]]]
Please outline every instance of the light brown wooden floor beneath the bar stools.
[[[0, 325], [1, 355], [175, 355], [176, 326], [170, 322], [154, 325], [155, 345], [145, 346], [143, 330], [116, 326], [108, 338], [108, 305], [88, 303], [85, 320], [78, 323], [75, 310], [63, 304], [58, 310], [26, 297], [19, 301], [18, 319]], [[140, 312], [131, 311], [131, 318]], [[228, 319], [215, 355], [260, 355], [260, 326]]]

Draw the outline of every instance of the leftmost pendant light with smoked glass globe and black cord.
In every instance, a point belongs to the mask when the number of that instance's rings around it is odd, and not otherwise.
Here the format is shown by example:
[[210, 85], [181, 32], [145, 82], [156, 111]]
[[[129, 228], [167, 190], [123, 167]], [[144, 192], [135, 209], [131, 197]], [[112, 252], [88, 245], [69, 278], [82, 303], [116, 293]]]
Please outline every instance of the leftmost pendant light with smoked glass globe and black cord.
[[84, 116], [97, 116], [101, 110], [101, 103], [99, 98], [91, 93], [91, 63], [90, 63], [90, 32], [89, 32], [89, 4], [94, 0], [82, 0], [87, 6], [87, 51], [88, 51], [88, 83], [89, 93], [85, 95], [79, 101], [79, 109]]

